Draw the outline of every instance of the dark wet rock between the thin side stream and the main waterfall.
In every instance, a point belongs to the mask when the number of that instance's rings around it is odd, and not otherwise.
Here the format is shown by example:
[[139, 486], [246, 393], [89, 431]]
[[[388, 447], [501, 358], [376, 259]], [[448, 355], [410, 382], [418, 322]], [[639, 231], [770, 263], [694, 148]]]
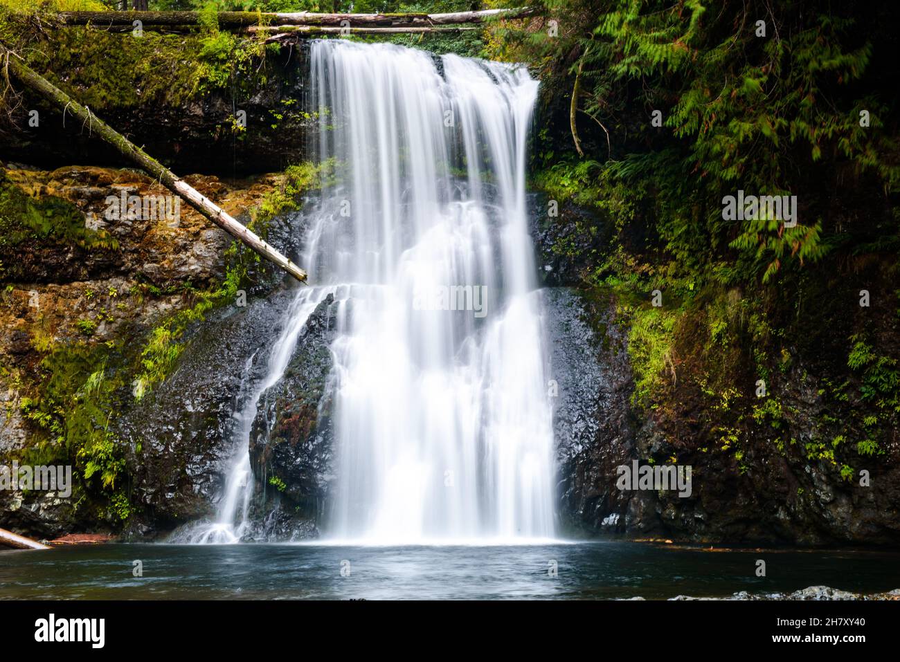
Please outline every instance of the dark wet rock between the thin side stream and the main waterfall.
[[[275, 497], [280, 538], [296, 537], [320, 521], [332, 475], [332, 394], [329, 350], [336, 333], [334, 298], [312, 312], [297, 339], [284, 377], [259, 399], [250, 433], [250, 461], [257, 485]], [[264, 507], [263, 510], [266, 510]], [[293, 523], [285, 520], [293, 520]]]

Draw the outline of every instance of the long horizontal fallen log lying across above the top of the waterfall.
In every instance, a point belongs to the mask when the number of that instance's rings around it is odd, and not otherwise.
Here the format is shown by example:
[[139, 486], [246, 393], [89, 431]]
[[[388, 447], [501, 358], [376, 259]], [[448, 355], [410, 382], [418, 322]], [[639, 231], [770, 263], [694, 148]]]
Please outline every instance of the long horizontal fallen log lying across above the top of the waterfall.
[[[486, 9], [478, 12], [455, 13], [256, 13], [220, 12], [217, 14], [220, 30], [245, 28], [258, 24], [304, 25], [335, 28], [427, 28], [436, 25], [480, 23], [494, 19], [526, 18], [536, 9]], [[144, 30], [157, 27], [181, 27], [200, 25], [199, 12], [60, 12], [62, 25], [94, 25], [96, 27], [121, 26], [131, 28], [140, 21]]]

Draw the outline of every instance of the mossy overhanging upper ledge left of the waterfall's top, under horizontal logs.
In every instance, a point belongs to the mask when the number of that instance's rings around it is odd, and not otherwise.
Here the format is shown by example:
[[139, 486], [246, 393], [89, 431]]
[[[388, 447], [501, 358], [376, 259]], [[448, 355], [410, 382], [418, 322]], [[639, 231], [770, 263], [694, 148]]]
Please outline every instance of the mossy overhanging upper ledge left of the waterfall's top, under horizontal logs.
[[[0, 6], [0, 40], [176, 172], [236, 176], [302, 159], [311, 120], [302, 111], [304, 49], [219, 31], [214, 11], [195, 33], [122, 34], [54, 27], [52, 13]], [[126, 165], [89, 126], [73, 127], [27, 90], [6, 89], [3, 105], [7, 159], [47, 168]]]

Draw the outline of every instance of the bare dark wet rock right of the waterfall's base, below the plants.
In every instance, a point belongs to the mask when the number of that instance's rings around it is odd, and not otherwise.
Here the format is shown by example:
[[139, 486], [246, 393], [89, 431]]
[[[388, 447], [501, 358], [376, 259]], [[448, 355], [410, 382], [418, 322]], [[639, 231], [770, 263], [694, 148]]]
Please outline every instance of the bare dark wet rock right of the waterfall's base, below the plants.
[[[585, 233], [588, 217], [561, 210], [559, 217], [548, 218], [543, 199], [535, 196], [532, 204], [536, 264], [545, 284], [583, 282], [590, 255], [603, 251], [598, 235]], [[578, 258], [570, 260], [570, 253]], [[842, 477], [840, 465], [807, 457], [806, 445], [821, 438], [822, 421], [833, 415], [818, 392], [821, 380], [815, 374], [822, 373], [815, 365], [798, 358], [779, 387], [785, 437], [794, 443], [779, 448], [764, 431], [742, 432], [738, 460], [734, 452], [719, 449], [716, 425], [730, 424], [709, 410], [689, 371], [665, 396], [665, 407], [633, 407], [629, 329], [616, 323], [615, 301], [590, 290], [548, 287], [545, 319], [551, 379], [559, 385], [554, 433], [563, 534], [787, 544], [900, 541], [896, 431], [882, 455], [854, 462], [850, 480]], [[816, 357], [822, 349], [791, 348], [790, 353]], [[689, 497], [676, 490], [617, 488], [618, 466], [634, 460], [662, 464], [671, 457], [692, 468]], [[860, 486], [860, 470], [869, 471], [869, 487]]]

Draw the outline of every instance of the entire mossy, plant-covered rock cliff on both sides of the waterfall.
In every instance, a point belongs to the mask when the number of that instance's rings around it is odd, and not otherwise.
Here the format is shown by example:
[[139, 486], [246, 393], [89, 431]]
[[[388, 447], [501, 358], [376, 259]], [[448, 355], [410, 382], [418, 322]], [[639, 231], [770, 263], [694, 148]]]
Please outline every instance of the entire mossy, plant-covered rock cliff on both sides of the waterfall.
[[[590, 371], [569, 376], [573, 400], [558, 408], [567, 531], [900, 540], [900, 85], [887, 5], [776, 3], [766, 38], [752, 29], [756, 3], [545, 5], [545, 17], [479, 43], [543, 81], [533, 236], [545, 284], [577, 291], [548, 295], [565, 320], [558, 341], [579, 347], [558, 358]], [[4, 39], [38, 44], [26, 54], [34, 67], [178, 169], [280, 169], [316, 119], [301, 110], [302, 49], [238, 42], [212, 21], [188, 36], [29, 30]], [[18, 102], [4, 156], [110, 157], [89, 127], [64, 130], [40, 104], [31, 127], [31, 101]], [[286, 184], [189, 181], [267, 218], [314, 179], [306, 166]], [[797, 195], [797, 226], [725, 219], [722, 200], [739, 189]], [[252, 291], [257, 265], [189, 210], [178, 228], [85, 225], [122, 190], [161, 192], [93, 166], [10, 165], [0, 181], [0, 451], [74, 462], [85, 497], [76, 509], [15, 497], [7, 521], [24, 531], [149, 532], [205, 514], [248, 353], [213, 348], [262, 346], [274, 322], [252, 301], [220, 306], [238, 284]], [[258, 292], [275, 288], [259, 280]], [[211, 362], [227, 366], [218, 386], [201, 370]], [[279, 401], [295, 416], [273, 412], [293, 443], [311, 433], [306, 395]], [[260, 476], [285, 481], [296, 458], [282, 451], [274, 467], [275, 450], [256, 449]], [[633, 460], [692, 466], [692, 495], [617, 489], [617, 466]], [[284, 489], [302, 501], [318, 488], [307, 487]]]

